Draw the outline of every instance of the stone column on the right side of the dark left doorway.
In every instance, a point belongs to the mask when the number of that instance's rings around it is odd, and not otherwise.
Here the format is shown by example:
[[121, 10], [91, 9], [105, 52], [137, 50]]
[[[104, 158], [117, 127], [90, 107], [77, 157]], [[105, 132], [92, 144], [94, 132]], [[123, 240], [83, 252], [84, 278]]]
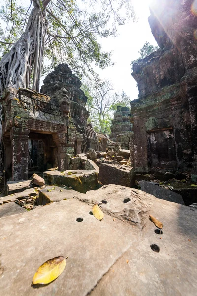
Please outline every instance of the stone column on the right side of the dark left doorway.
[[63, 133], [53, 134], [53, 141], [58, 148], [58, 170], [66, 171], [68, 169], [66, 135]]

